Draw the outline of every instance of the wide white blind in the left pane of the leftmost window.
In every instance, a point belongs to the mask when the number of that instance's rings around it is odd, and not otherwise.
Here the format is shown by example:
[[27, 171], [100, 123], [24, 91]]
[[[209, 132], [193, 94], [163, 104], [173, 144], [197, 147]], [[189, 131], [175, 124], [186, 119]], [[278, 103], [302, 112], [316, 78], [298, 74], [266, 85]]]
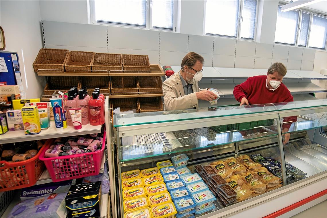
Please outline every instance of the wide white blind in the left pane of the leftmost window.
[[98, 22], [146, 26], [146, 0], [95, 0]]

